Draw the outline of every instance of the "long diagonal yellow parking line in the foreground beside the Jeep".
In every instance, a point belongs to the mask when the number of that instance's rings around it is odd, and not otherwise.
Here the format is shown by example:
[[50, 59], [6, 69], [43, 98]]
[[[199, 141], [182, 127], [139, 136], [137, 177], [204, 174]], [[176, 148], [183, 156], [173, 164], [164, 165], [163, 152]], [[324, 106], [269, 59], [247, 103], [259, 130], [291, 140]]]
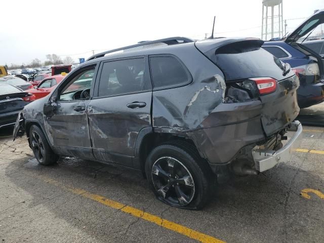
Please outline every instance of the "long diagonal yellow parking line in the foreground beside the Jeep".
[[157, 224], [158, 226], [161, 226], [161, 227], [170, 229], [170, 230], [172, 230], [174, 232], [177, 232], [179, 234], [188, 236], [191, 239], [195, 239], [195, 240], [198, 240], [198, 241], [204, 242], [204, 243], [205, 242], [225, 243], [225, 241], [217, 239], [217, 238], [215, 238], [213, 236], [210, 236], [210, 235], [195, 231], [195, 230], [187, 228], [187, 227], [185, 227], [183, 225], [180, 225], [180, 224], [174, 223], [172, 221], [160, 218], [160, 217], [155, 216], [153, 214], [146, 213], [146, 212], [144, 212], [142, 210], [139, 210], [139, 209], [136, 209], [136, 208], [133, 208], [133, 207], [130, 207], [130, 206], [126, 206], [124, 204], [120, 204], [117, 201], [113, 201], [113, 200], [110, 200], [110, 199], [108, 199], [106, 197], [90, 193], [90, 192], [88, 192], [86, 190], [66, 186], [66, 185], [64, 185], [64, 184], [62, 184], [62, 183], [60, 183], [60, 182], [58, 182], [56, 180], [47, 178], [47, 177], [42, 176], [42, 175], [32, 175], [32, 176], [37, 177], [37, 178], [41, 178], [41, 179], [43, 179], [44, 181], [46, 181], [46, 182], [48, 182], [50, 184], [58, 186], [58, 187], [60, 187], [62, 189], [66, 189], [66, 190], [68, 190], [68, 191], [70, 191], [70, 192], [72, 192], [74, 194], [77, 194], [77, 195], [80, 195], [80, 196], [83, 196], [83, 197], [86, 197], [86, 198], [90, 198], [90, 199], [92, 199], [94, 201], [97, 201], [100, 204], [103, 204], [103, 205], [107, 206], [107, 207], [123, 211], [124, 213], [131, 214], [131, 215], [133, 215], [135, 217], [138, 217], [138, 218], [141, 218], [143, 220], [149, 221], [151, 223]]

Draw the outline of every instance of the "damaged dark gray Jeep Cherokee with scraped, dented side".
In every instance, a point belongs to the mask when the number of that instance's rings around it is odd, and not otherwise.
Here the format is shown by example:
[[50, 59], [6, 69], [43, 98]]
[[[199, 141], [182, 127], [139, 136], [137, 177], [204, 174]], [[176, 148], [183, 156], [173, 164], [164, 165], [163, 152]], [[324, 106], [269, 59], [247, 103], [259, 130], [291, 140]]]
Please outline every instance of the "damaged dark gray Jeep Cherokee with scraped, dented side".
[[96, 54], [24, 107], [13, 139], [26, 133], [42, 165], [141, 170], [159, 200], [201, 209], [228, 172], [257, 175], [299, 146], [299, 79], [262, 44], [171, 37]]

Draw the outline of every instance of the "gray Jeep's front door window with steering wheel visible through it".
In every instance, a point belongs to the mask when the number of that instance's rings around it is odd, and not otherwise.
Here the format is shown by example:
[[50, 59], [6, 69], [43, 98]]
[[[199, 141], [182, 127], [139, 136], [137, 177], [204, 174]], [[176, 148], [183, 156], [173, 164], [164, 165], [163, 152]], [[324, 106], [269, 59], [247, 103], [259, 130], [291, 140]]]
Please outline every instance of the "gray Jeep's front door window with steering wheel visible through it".
[[70, 80], [60, 93], [60, 100], [79, 100], [90, 98], [90, 88], [93, 82], [95, 67], [88, 68]]

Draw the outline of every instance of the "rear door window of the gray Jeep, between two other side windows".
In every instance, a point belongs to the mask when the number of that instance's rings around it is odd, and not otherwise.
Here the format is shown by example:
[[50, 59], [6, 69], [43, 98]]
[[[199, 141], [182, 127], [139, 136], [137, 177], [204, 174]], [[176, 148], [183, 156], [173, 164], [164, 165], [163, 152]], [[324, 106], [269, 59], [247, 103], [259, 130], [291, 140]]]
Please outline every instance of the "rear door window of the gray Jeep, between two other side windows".
[[98, 95], [120, 95], [147, 90], [144, 69], [144, 58], [105, 62]]

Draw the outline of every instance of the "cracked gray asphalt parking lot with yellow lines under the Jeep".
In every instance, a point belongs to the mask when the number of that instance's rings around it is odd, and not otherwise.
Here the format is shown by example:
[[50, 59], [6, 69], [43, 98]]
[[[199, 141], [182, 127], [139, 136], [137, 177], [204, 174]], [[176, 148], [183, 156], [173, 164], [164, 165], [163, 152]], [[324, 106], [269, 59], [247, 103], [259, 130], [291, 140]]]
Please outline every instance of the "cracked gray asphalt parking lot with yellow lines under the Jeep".
[[303, 128], [288, 163], [220, 184], [200, 211], [161, 203], [134, 170], [72, 157], [38, 165], [26, 137], [2, 130], [0, 241], [324, 242], [324, 128]]

